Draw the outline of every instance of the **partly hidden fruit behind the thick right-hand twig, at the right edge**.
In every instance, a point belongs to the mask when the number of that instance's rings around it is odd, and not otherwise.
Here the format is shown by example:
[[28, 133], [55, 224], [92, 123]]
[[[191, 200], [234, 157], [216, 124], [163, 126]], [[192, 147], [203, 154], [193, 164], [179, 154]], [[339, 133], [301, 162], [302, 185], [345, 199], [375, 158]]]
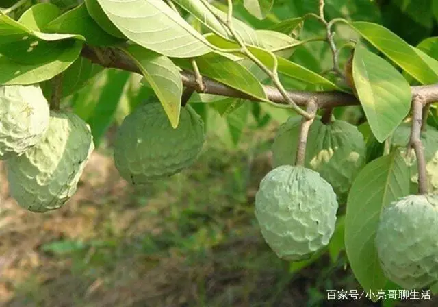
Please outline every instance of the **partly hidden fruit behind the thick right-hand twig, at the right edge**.
[[[398, 126], [392, 136], [391, 143], [394, 147], [407, 147], [411, 134], [411, 124], [402, 123]], [[438, 131], [431, 126], [421, 134], [422, 145], [424, 147], [424, 158], [426, 160], [426, 176], [428, 181], [428, 191], [438, 192]], [[411, 191], [417, 191], [418, 171], [415, 152], [411, 151], [411, 156], [406, 157], [406, 150], [402, 149], [402, 156], [409, 165], [411, 171]]]

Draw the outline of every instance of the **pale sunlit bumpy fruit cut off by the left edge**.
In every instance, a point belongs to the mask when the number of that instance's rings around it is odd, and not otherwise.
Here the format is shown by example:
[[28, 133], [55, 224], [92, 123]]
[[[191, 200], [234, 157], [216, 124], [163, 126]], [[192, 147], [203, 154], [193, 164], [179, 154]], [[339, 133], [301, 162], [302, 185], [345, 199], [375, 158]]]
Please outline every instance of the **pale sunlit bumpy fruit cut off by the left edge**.
[[22, 155], [47, 127], [49, 104], [39, 86], [0, 86], [0, 160]]

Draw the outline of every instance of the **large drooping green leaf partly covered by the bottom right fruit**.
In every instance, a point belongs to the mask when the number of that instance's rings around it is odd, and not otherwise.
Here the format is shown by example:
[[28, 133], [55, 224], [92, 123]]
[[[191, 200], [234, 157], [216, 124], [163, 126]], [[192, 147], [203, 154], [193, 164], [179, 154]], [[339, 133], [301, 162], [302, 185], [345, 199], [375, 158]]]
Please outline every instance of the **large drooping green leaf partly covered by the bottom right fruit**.
[[347, 200], [345, 247], [351, 269], [365, 291], [382, 289], [387, 278], [374, 238], [383, 206], [409, 194], [409, 170], [399, 151], [373, 160], [357, 175]]

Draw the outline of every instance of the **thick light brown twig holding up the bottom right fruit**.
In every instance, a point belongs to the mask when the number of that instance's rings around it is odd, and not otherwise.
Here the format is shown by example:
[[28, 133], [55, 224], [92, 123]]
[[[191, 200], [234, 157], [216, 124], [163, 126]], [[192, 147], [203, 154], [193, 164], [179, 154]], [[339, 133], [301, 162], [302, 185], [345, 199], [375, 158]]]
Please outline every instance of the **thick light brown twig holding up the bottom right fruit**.
[[411, 147], [415, 151], [417, 157], [418, 169], [418, 193], [427, 193], [427, 177], [426, 177], [426, 160], [424, 158], [424, 148], [421, 140], [422, 128], [422, 110], [425, 104], [424, 97], [421, 95], [414, 95], [412, 99], [412, 127], [411, 137], [409, 139], [408, 152]]

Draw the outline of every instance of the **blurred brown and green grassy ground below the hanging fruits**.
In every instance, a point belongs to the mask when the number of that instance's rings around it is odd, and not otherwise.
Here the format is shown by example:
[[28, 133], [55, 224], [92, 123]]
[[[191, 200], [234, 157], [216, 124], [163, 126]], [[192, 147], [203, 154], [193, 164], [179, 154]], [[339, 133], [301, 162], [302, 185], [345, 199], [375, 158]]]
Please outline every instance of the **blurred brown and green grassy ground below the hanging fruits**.
[[261, 237], [254, 197], [271, 169], [273, 131], [256, 145], [251, 132], [237, 149], [209, 137], [193, 167], [145, 188], [120, 178], [103, 145], [73, 199], [46, 214], [15, 204], [3, 175], [0, 304], [353, 306], [326, 301], [326, 289], [360, 290], [345, 254], [298, 270]]

